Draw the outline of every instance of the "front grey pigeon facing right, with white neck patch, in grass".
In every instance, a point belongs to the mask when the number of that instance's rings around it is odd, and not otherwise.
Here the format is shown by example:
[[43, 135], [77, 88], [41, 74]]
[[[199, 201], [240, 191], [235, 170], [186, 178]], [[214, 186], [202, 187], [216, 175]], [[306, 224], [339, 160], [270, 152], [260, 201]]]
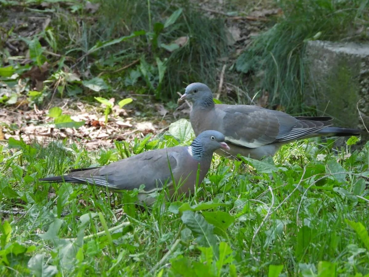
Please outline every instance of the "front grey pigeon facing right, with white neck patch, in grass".
[[114, 191], [138, 189], [144, 184], [145, 188], [139, 191], [139, 201], [150, 205], [155, 200], [153, 196], [165, 185], [169, 188], [170, 196], [173, 195], [176, 189], [172, 177], [179, 194], [193, 192], [198, 168], [200, 183], [210, 168], [213, 152], [219, 148], [229, 150], [223, 134], [208, 130], [199, 134], [190, 146], [146, 151], [103, 167], [82, 168], [64, 176], [39, 180], [95, 184]]

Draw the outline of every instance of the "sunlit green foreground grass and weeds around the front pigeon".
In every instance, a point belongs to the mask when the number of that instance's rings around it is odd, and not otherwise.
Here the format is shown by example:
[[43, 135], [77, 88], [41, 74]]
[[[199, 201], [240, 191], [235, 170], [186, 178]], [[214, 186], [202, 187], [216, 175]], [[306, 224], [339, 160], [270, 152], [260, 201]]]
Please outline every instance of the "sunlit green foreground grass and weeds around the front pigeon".
[[188, 142], [168, 135], [90, 153], [63, 141], [1, 146], [0, 274], [369, 274], [368, 143], [347, 155], [332, 140], [300, 141], [246, 167], [214, 155], [195, 195], [161, 195], [146, 209], [132, 204], [134, 191], [38, 181], [178, 143]]

